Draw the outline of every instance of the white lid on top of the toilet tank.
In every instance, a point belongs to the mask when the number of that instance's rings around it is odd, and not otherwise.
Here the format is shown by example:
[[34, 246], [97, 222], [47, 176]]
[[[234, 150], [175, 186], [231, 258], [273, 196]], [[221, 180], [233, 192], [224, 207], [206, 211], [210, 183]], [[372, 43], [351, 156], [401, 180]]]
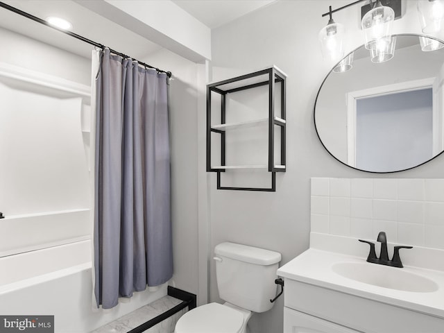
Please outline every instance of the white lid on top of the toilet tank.
[[278, 252], [230, 242], [216, 245], [214, 254], [264, 266], [276, 264], [281, 259]]

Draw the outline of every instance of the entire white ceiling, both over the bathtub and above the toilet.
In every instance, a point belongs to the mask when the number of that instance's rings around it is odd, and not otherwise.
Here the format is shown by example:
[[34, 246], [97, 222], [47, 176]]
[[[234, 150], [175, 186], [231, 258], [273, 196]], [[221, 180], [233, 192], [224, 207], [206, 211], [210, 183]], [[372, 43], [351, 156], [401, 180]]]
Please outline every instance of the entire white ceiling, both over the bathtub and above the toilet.
[[[105, 17], [88, 10], [81, 5], [82, 1], [97, 0], [2, 0], [8, 5], [28, 12], [31, 15], [46, 19], [58, 16], [72, 23], [72, 31], [89, 40], [109, 46], [111, 49], [126, 53], [133, 58], [141, 59], [161, 49], [161, 46], [146, 40], [133, 31], [116, 24]], [[146, 0], [148, 1], [148, 0]], [[180, 8], [189, 12], [203, 24], [216, 28], [233, 19], [237, 19], [266, 6], [275, 0], [172, 0]], [[85, 58], [91, 56], [93, 46], [76, 40], [22, 17], [14, 12], [0, 8], [0, 27], [15, 31], [46, 44], [57, 46]]]

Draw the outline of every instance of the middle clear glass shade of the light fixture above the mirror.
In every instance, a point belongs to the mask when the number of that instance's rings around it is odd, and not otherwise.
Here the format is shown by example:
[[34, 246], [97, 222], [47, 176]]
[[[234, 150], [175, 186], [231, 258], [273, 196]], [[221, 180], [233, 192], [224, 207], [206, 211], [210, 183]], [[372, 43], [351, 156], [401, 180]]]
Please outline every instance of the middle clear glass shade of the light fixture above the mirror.
[[395, 12], [393, 9], [387, 6], [380, 6], [379, 1], [375, 8], [369, 10], [364, 15], [361, 21], [361, 28], [366, 36], [366, 49], [372, 49], [372, 45], [381, 38], [391, 37], [394, 19]]

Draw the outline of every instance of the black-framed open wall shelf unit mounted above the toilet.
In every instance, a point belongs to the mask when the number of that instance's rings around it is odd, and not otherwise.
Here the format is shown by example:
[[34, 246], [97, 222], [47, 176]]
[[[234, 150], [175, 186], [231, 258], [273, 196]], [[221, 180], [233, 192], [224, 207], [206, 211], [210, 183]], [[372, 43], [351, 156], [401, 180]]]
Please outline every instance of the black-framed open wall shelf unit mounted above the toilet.
[[[275, 174], [286, 168], [286, 78], [273, 66], [207, 85], [206, 164], [217, 189], [275, 191]], [[251, 128], [258, 130], [250, 135]], [[225, 171], [260, 169], [271, 174], [270, 187], [222, 185]]]

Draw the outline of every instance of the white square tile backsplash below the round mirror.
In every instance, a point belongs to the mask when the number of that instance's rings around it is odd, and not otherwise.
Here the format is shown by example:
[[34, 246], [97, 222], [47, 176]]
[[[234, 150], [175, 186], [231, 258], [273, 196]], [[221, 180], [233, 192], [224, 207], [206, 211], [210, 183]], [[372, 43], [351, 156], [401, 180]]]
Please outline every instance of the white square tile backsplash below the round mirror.
[[444, 179], [311, 178], [311, 232], [444, 249]]

